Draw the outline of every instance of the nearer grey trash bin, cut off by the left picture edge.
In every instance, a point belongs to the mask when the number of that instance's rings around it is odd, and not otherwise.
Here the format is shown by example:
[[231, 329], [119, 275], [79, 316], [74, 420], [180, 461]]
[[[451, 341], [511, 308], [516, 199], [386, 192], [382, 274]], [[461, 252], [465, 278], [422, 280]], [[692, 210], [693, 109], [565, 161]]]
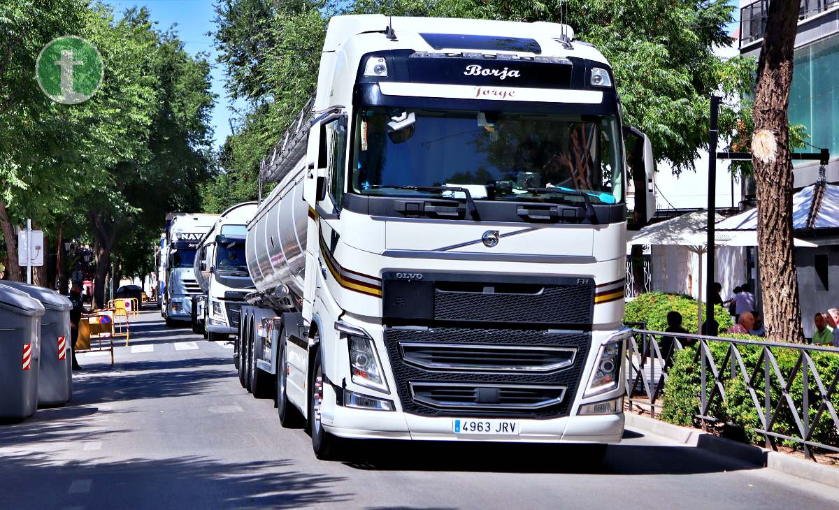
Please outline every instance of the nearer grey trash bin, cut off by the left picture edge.
[[24, 419], [38, 407], [44, 306], [0, 284], [0, 419]]

